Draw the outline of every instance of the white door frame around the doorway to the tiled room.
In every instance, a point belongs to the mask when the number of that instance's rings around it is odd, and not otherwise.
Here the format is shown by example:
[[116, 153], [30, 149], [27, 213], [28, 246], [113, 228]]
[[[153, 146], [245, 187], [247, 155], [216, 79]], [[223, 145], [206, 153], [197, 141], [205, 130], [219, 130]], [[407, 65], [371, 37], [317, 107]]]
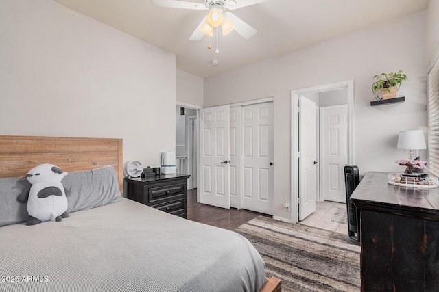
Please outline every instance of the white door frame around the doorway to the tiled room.
[[347, 88], [348, 90], [348, 163], [354, 164], [354, 81], [346, 80], [324, 85], [300, 88], [291, 91], [292, 120], [291, 120], [291, 221], [298, 222], [298, 98], [302, 94], [324, 92]]

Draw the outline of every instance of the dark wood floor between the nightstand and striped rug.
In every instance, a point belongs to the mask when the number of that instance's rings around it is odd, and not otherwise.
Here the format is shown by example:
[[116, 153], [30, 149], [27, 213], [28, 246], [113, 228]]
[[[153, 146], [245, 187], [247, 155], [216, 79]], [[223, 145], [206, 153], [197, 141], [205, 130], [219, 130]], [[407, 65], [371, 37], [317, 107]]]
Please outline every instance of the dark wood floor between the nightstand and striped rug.
[[265, 214], [244, 209], [223, 209], [206, 204], [199, 204], [197, 202], [197, 190], [192, 189], [187, 191], [187, 219], [189, 220], [233, 230], [259, 215]]

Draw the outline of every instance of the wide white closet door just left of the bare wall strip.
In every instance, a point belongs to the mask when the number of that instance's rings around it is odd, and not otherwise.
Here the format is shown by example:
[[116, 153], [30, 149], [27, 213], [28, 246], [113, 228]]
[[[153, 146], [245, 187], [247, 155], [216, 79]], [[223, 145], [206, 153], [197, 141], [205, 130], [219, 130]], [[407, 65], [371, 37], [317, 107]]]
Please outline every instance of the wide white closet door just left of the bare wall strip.
[[243, 209], [274, 212], [273, 103], [242, 107]]

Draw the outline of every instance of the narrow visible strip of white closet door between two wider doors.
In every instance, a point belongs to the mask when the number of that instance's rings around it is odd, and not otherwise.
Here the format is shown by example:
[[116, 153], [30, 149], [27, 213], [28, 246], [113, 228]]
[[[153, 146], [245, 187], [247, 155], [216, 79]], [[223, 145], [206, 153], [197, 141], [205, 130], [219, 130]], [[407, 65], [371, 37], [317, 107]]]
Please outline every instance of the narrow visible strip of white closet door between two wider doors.
[[230, 107], [230, 207], [241, 209], [241, 106]]

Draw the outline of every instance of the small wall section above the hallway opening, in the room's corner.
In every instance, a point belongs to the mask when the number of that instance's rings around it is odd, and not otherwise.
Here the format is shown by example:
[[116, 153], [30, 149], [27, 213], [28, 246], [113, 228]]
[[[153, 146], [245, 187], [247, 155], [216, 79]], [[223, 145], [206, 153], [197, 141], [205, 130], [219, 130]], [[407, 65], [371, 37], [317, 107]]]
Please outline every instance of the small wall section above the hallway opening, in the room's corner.
[[176, 99], [180, 103], [203, 106], [204, 79], [191, 73], [176, 70]]

